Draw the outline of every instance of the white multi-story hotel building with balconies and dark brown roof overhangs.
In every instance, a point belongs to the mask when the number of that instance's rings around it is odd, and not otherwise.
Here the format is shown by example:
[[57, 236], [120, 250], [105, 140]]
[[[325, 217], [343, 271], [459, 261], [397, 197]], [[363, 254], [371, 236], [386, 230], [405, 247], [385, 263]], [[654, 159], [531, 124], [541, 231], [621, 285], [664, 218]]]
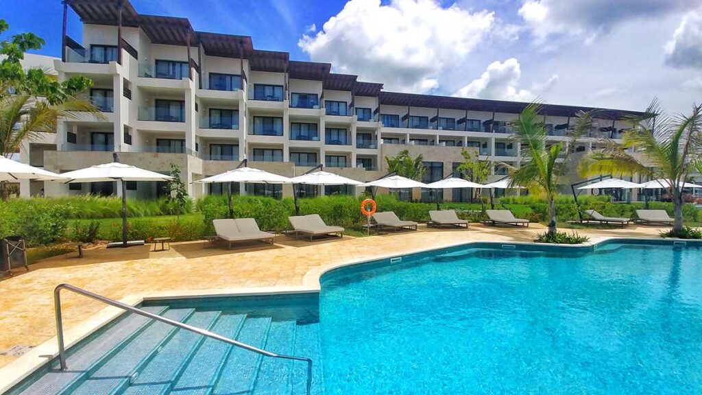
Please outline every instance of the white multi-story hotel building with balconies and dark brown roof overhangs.
[[[85, 75], [89, 95], [104, 117], [81, 115], [60, 122], [55, 135], [25, 144], [22, 157], [51, 171], [64, 172], [123, 162], [167, 172], [183, 171], [194, 196], [218, 193], [219, 186], [191, 184], [249, 166], [285, 176], [317, 164], [352, 179], [369, 181], [385, 174], [385, 157], [407, 149], [422, 154], [425, 181], [455, 171], [461, 150], [518, 165], [520, 147], [508, 122], [525, 103], [475, 98], [395, 93], [379, 82], [331, 72], [329, 63], [289, 59], [289, 53], [254, 48], [251, 37], [194, 31], [185, 18], [141, 15], [128, 1], [64, 1], [59, 79]], [[83, 22], [82, 43], [66, 35], [67, 12]], [[545, 105], [550, 140], [564, 136], [579, 110]], [[604, 110], [597, 126], [571, 152], [586, 152], [621, 137], [625, 113]], [[506, 174], [496, 165], [494, 179]], [[112, 193], [107, 184], [25, 182], [22, 193], [51, 195]], [[132, 183], [130, 194], [154, 197], [155, 183]], [[289, 186], [239, 186], [240, 192], [289, 195]], [[344, 188], [306, 188], [324, 194]], [[462, 199], [465, 193], [447, 193]]]

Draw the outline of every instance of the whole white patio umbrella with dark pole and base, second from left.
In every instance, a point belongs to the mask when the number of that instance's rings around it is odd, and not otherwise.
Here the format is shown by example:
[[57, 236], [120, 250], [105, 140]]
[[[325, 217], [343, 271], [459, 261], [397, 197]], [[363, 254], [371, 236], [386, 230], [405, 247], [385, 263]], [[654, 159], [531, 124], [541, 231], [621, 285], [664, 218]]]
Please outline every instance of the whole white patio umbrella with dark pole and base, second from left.
[[140, 169], [130, 164], [120, 163], [119, 155], [114, 155], [114, 162], [96, 164], [74, 171], [61, 174], [67, 179], [66, 183], [99, 183], [105, 181], [120, 181], [122, 186], [122, 242], [110, 243], [107, 247], [128, 247], [129, 245], [143, 245], [144, 240], [127, 241], [127, 188], [126, 181], [168, 181], [173, 177], [155, 171]]

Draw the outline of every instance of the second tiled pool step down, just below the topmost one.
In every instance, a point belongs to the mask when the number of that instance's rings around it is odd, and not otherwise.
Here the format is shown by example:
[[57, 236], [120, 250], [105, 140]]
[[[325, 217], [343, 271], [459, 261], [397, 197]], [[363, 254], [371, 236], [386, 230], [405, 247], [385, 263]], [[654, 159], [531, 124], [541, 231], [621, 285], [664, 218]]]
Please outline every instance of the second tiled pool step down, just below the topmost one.
[[[193, 312], [194, 309], [170, 309], [164, 317], [184, 321]], [[126, 389], [132, 375], [156, 356], [177, 331], [178, 328], [167, 323], [154, 322], [69, 394], [119, 394]]]

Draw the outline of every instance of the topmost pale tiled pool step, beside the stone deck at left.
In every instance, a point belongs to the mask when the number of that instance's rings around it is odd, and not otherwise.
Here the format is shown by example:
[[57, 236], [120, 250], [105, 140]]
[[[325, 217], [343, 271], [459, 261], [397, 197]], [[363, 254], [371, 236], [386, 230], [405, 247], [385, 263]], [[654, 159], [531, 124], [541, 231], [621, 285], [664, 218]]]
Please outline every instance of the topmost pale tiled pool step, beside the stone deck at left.
[[[153, 306], [145, 307], [144, 310], [154, 314], [163, 314], [168, 308]], [[68, 349], [66, 358], [68, 370], [59, 370], [58, 363], [56, 363], [55, 368], [39, 377], [37, 381], [23, 389], [10, 391], [8, 394], [54, 395], [65, 393], [86, 380], [88, 375], [102, 367], [132, 339], [149, 328], [152, 323], [153, 320], [149, 318], [128, 313], [97, 337], [88, 338], [84, 344], [77, 346], [76, 349]]]

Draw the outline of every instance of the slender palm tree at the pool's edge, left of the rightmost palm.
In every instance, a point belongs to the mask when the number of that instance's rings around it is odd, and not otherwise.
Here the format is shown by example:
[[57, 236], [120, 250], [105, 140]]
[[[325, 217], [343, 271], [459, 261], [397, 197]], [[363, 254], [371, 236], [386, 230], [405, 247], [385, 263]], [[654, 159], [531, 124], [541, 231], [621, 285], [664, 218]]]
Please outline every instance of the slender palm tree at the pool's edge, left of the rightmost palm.
[[[556, 205], [559, 179], [564, 174], [569, 150], [564, 149], [562, 142], [547, 143], [548, 132], [540, 115], [541, 105], [530, 103], [524, 108], [519, 118], [512, 122], [515, 129], [515, 140], [522, 145], [523, 162], [518, 168], [512, 168], [510, 186], [524, 186], [541, 190], [548, 201], [548, 234], [556, 233]], [[592, 116], [595, 110], [578, 112], [569, 126], [568, 134], [572, 141], [580, 138], [592, 126]], [[563, 153], [563, 155], [562, 155]], [[563, 158], [559, 161], [559, 158]]]

